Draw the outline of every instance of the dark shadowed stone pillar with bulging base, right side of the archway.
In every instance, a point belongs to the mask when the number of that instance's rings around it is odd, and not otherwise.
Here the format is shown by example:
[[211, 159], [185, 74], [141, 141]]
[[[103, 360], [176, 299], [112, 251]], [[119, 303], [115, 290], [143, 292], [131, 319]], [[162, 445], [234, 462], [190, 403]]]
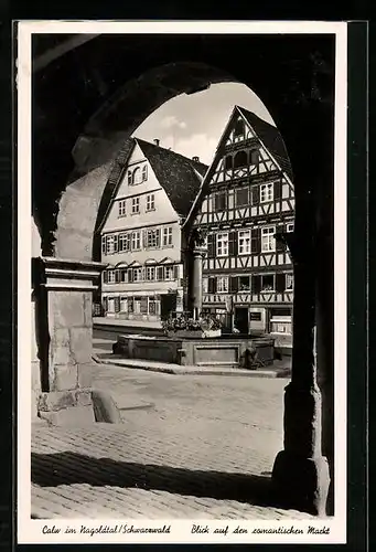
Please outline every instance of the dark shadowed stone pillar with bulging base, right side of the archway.
[[293, 350], [291, 382], [284, 392], [284, 448], [277, 455], [272, 481], [286, 506], [320, 516], [325, 513], [330, 476], [322, 456], [322, 402], [316, 382], [316, 247], [307, 227], [284, 240], [294, 268]]

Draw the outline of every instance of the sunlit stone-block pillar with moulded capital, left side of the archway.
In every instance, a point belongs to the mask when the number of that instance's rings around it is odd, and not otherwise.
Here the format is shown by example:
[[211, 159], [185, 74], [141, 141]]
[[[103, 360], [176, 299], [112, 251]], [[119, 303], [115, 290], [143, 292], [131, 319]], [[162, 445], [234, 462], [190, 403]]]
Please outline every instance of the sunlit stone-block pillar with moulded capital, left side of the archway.
[[104, 266], [55, 257], [33, 258], [40, 415], [41, 411], [92, 405], [89, 393], [84, 393], [92, 385], [92, 294]]

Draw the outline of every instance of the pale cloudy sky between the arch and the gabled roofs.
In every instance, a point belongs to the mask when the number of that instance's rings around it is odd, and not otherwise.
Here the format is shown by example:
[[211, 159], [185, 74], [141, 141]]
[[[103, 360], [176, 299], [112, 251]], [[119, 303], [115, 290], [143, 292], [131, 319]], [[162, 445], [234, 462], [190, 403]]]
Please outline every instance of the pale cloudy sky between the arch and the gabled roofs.
[[189, 158], [211, 164], [218, 140], [235, 105], [245, 107], [275, 125], [262, 102], [247, 86], [238, 83], [212, 84], [196, 94], [181, 94], [155, 109], [133, 136], [147, 141], [160, 140]]

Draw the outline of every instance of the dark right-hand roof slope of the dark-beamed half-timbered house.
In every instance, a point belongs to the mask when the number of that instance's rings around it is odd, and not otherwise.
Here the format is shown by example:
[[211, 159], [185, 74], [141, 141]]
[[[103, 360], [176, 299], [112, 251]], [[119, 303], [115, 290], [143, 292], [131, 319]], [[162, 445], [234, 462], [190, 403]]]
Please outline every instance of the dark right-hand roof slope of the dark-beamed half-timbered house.
[[282, 171], [286, 171], [288, 177], [292, 180], [290, 159], [278, 128], [270, 125], [266, 120], [260, 119], [259, 117], [257, 117], [257, 115], [248, 112], [248, 109], [245, 109], [244, 107], [235, 107], [255, 130], [257, 137], [262, 141], [264, 146], [276, 159]]

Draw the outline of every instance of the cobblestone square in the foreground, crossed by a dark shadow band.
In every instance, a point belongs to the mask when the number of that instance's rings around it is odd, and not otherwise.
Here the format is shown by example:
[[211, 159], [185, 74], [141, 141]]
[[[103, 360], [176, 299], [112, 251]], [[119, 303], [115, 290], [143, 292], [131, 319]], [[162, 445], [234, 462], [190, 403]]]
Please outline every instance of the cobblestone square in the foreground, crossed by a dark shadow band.
[[123, 424], [33, 427], [34, 517], [309, 518], [270, 490], [288, 380], [93, 370]]

